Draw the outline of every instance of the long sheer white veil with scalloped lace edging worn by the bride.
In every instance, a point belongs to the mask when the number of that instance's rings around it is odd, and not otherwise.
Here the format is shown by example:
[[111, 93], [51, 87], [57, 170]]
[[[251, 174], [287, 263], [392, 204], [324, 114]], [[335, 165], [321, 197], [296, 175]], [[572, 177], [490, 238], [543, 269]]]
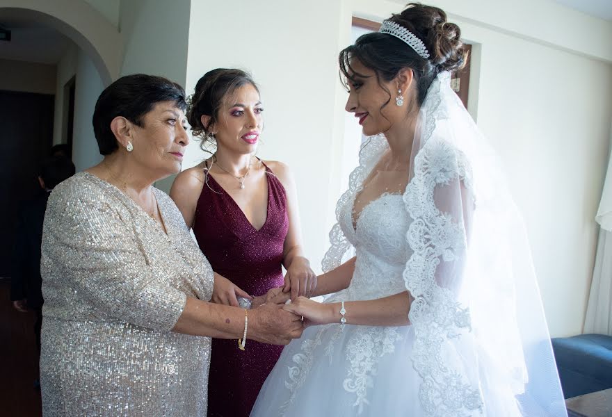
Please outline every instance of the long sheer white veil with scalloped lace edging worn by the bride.
[[[353, 201], [388, 149], [369, 138], [349, 189]], [[450, 87], [433, 81], [421, 106], [403, 194], [412, 220], [405, 287], [414, 298], [412, 361], [430, 416], [567, 416], [524, 223], [494, 152]], [[339, 224], [327, 272], [351, 248]]]

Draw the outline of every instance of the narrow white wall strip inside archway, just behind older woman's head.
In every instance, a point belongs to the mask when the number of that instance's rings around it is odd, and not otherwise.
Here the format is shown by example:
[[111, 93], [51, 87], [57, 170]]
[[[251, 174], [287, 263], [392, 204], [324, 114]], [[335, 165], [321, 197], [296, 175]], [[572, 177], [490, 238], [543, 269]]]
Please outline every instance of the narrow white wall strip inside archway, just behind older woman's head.
[[78, 172], [102, 161], [91, 119], [95, 103], [104, 90], [104, 83], [94, 63], [84, 51], [80, 50], [77, 54], [76, 81], [72, 161]]

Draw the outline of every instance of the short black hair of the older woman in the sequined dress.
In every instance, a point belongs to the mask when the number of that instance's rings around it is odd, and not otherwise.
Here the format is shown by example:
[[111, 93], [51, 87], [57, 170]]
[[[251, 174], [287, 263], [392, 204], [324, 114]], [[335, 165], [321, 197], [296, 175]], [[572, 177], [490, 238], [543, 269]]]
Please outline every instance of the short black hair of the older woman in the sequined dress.
[[115, 117], [125, 117], [142, 126], [143, 116], [160, 101], [174, 101], [183, 111], [187, 108], [185, 90], [161, 76], [132, 74], [108, 85], [96, 102], [92, 124], [100, 154], [110, 155], [119, 148], [111, 131]]

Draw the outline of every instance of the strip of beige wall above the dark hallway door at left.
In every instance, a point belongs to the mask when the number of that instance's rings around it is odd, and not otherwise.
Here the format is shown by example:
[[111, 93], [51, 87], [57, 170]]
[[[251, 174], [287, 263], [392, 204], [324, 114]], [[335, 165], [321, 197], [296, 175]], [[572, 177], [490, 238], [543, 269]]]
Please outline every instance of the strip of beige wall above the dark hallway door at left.
[[0, 59], [0, 90], [55, 94], [56, 66]]

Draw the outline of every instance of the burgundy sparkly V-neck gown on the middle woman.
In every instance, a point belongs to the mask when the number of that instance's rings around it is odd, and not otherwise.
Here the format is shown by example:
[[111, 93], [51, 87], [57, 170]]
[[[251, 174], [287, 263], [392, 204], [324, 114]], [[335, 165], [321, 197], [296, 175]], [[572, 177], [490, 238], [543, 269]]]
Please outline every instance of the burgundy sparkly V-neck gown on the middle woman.
[[[261, 229], [252, 227], [238, 204], [211, 175], [195, 208], [193, 232], [213, 270], [250, 295], [264, 295], [270, 288], [284, 284], [281, 263], [289, 229], [287, 199], [280, 181], [268, 167], [266, 172], [268, 218]], [[209, 417], [248, 416], [281, 351], [282, 346], [251, 340], [241, 351], [236, 340], [214, 338]]]

